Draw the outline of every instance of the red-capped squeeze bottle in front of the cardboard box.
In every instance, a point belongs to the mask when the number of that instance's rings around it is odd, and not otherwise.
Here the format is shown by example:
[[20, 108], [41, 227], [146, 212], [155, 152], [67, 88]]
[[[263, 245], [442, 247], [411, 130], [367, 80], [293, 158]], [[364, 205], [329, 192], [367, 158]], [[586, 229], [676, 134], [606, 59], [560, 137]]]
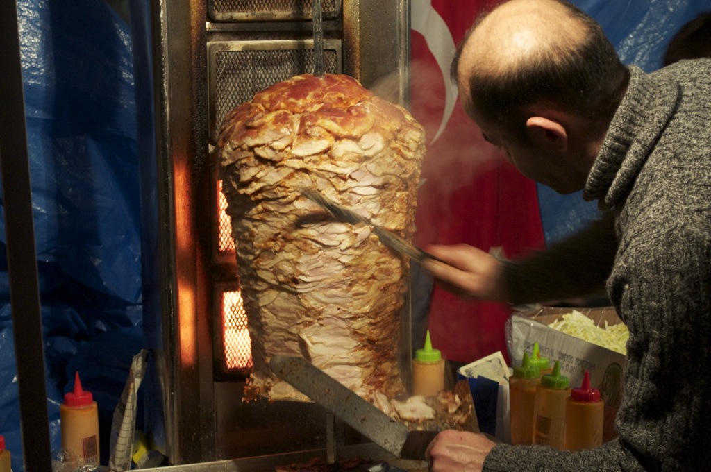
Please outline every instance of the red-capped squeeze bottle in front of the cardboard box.
[[590, 387], [586, 370], [582, 386], [570, 391], [565, 404], [565, 449], [592, 449], [602, 444], [605, 403], [600, 391]]

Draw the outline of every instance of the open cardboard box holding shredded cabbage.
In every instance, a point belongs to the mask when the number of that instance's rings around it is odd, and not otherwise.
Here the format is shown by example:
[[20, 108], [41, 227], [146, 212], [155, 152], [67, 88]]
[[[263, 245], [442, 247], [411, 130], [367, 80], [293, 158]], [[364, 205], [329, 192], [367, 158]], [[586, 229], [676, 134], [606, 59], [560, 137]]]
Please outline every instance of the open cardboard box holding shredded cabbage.
[[570, 378], [571, 387], [579, 387], [587, 369], [592, 387], [600, 390], [605, 401], [604, 441], [609, 441], [614, 433], [614, 417], [622, 398], [622, 377], [626, 356], [614, 350], [588, 343], [550, 328], [553, 321], [562, 319], [566, 313], [579, 311], [591, 318], [596, 326], [621, 323], [614, 308], [542, 308], [533, 311], [513, 313], [508, 319], [506, 337], [508, 354], [514, 366], [520, 365], [523, 353], [533, 352], [533, 343], [538, 343], [540, 355], [550, 359], [551, 365], [560, 361], [561, 374]]

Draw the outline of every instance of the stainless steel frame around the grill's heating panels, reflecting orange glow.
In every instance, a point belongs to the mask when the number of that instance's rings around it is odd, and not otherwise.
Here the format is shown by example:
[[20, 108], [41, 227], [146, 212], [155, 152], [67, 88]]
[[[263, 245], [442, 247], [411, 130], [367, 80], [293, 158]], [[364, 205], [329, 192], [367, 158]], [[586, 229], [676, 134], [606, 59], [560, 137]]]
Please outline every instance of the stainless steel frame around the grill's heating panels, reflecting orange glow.
[[[249, 37], [292, 36], [304, 41], [311, 23], [211, 23], [205, 0], [160, 0], [151, 5], [156, 175], [141, 176], [141, 185], [147, 193], [154, 189], [154, 206], [146, 205], [149, 208], [144, 210], [155, 213], [157, 223], [144, 227], [155, 249], [155, 254], [146, 254], [155, 267], [144, 277], [148, 287], [144, 304], [159, 311], [159, 320], [152, 323], [162, 333], [156, 367], [163, 389], [169, 461], [204, 463], [238, 456], [220, 446], [220, 429], [232, 424], [225, 425], [225, 417], [220, 413], [218, 418], [217, 412], [218, 404], [220, 412], [229, 402], [236, 410], [244, 407], [235, 395], [240, 385], [215, 382], [213, 376], [213, 276], [220, 269], [213, 265], [213, 231], [205, 221], [214, 192], [208, 145], [214, 111], [211, 114], [208, 107], [207, 45]], [[343, 73], [405, 105], [409, 35], [407, 0], [343, 0], [342, 18], [324, 18], [324, 38], [342, 41]], [[404, 324], [410, 345], [409, 320]], [[410, 350], [404, 355], [409, 359]], [[200, 470], [258, 469], [230, 468], [224, 463]]]

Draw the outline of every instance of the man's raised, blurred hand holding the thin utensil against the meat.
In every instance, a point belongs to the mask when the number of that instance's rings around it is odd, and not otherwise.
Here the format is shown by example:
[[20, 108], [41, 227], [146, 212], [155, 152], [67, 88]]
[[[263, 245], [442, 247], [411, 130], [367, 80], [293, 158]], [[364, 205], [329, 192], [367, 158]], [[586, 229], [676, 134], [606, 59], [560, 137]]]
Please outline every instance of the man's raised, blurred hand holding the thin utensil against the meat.
[[427, 252], [447, 262], [427, 259], [422, 264], [447, 290], [469, 298], [507, 301], [502, 263], [496, 257], [469, 245], [432, 245]]

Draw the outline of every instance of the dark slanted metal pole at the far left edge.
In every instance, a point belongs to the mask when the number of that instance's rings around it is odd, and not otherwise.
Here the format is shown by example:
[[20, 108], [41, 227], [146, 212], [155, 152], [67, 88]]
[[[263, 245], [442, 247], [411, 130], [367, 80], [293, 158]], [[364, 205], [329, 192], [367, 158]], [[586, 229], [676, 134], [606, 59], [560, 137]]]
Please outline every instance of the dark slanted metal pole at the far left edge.
[[32, 193], [15, 0], [0, 1], [0, 171], [26, 472], [52, 470]]

